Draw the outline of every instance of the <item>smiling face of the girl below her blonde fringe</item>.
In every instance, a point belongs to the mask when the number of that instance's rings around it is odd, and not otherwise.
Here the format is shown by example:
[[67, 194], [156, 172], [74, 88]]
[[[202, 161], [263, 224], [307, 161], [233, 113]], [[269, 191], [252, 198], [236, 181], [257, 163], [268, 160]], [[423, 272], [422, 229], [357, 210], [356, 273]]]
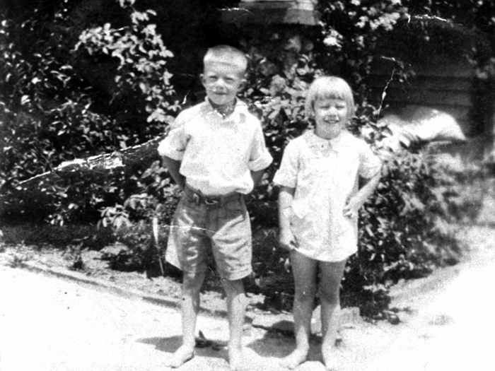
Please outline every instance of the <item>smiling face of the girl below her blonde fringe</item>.
[[349, 107], [342, 99], [318, 99], [315, 101], [315, 134], [323, 139], [334, 139], [345, 129], [349, 119]]

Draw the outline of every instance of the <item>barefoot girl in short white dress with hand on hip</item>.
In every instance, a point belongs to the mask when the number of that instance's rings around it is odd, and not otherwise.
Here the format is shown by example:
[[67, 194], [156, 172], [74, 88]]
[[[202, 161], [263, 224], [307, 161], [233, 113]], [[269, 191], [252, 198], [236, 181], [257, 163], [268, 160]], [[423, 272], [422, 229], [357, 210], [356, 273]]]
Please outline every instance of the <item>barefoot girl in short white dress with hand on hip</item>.
[[[340, 310], [339, 287], [347, 258], [357, 251], [358, 211], [380, 179], [380, 160], [349, 133], [351, 88], [342, 78], [317, 78], [308, 90], [306, 114], [315, 130], [291, 141], [274, 177], [279, 184], [279, 242], [289, 249], [296, 293], [296, 349], [282, 364], [294, 369], [309, 351], [310, 321], [320, 270], [322, 356], [335, 367], [332, 348]], [[364, 185], [359, 189], [359, 180]]]

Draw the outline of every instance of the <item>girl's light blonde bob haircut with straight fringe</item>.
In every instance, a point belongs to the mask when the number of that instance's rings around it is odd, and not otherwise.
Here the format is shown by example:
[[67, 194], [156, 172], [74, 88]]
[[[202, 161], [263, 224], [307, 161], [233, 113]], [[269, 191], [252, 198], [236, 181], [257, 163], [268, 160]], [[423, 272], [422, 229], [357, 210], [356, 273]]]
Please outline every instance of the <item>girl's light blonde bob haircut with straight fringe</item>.
[[337, 76], [321, 76], [311, 84], [306, 95], [305, 110], [308, 117], [315, 116], [315, 102], [323, 99], [342, 99], [347, 105], [347, 119], [354, 116], [354, 95], [351, 87]]

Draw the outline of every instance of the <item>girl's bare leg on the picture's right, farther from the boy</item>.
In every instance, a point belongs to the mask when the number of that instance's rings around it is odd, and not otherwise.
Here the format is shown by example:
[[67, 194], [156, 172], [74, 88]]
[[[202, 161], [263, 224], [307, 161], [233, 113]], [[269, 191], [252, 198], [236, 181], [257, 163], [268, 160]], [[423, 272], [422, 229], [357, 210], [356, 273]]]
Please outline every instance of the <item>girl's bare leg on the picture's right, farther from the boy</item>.
[[340, 281], [344, 274], [346, 260], [321, 263], [322, 280], [320, 285], [320, 303], [322, 320], [322, 356], [327, 370], [335, 371], [338, 365], [333, 357], [335, 339], [339, 326]]

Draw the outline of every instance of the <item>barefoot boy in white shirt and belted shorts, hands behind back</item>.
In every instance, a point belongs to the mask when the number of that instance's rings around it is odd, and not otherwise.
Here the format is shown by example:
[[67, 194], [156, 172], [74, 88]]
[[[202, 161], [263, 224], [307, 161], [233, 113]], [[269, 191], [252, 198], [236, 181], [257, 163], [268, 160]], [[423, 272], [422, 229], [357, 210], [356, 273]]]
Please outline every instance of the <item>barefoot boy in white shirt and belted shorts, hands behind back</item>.
[[251, 227], [244, 195], [272, 163], [260, 121], [236, 95], [248, 60], [240, 50], [212, 47], [201, 76], [205, 102], [180, 112], [158, 153], [184, 195], [175, 211], [165, 258], [183, 271], [182, 346], [170, 367], [194, 356], [199, 290], [211, 250], [226, 292], [231, 370], [242, 363], [245, 316], [242, 278], [251, 271]]

